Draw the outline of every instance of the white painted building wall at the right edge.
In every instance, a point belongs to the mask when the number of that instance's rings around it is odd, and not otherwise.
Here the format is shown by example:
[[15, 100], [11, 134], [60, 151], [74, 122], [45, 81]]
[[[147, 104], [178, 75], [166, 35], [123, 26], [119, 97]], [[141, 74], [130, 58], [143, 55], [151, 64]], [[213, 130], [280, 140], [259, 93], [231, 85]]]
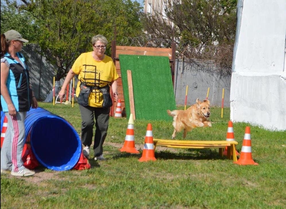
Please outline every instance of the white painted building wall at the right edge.
[[239, 0], [230, 119], [286, 130], [286, 1]]

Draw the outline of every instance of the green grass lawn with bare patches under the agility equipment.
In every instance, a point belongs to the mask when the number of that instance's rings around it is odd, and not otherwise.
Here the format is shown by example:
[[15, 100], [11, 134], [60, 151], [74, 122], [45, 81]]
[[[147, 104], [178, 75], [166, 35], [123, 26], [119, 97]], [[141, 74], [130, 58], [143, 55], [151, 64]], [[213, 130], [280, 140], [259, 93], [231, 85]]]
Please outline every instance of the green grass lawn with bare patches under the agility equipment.
[[[39, 106], [62, 116], [80, 134], [78, 105]], [[183, 109], [183, 106], [178, 107]], [[187, 140], [224, 140], [229, 108], [221, 118], [211, 108], [211, 128], [188, 132]], [[143, 145], [147, 123], [153, 136], [170, 139], [172, 122], [135, 120], [135, 142]], [[156, 150], [155, 162], [139, 162], [140, 154], [118, 151], [128, 121], [110, 118], [104, 144], [107, 161], [89, 170], [56, 172], [37, 168], [36, 176], [1, 175], [1, 208], [285, 208], [286, 132], [267, 131], [247, 123], [234, 123], [240, 152], [245, 126], [251, 127], [252, 157], [258, 166], [239, 166], [218, 155], [218, 149]], [[182, 139], [179, 133], [176, 139]], [[93, 156], [93, 153], [91, 153]]]

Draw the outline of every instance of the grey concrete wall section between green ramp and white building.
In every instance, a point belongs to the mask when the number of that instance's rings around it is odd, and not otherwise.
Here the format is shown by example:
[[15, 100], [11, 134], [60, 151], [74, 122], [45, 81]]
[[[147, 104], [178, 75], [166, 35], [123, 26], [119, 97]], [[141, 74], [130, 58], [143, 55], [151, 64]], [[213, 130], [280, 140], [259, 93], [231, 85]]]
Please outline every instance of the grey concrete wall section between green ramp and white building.
[[224, 106], [229, 107], [229, 91], [231, 76], [221, 73], [221, 69], [212, 61], [181, 60], [175, 63], [175, 98], [177, 104], [184, 105], [186, 86], [188, 85], [187, 105], [192, 105], [196, 99], [208, 99], [212, 106], [221, 106], [224, 88]]

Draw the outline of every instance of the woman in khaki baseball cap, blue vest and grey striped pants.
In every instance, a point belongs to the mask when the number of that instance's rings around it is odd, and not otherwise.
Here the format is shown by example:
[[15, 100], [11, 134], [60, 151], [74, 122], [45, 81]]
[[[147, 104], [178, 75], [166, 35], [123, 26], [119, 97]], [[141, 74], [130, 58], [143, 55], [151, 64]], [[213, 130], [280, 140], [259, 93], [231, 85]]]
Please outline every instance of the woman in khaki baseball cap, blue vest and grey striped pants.
[[29, 70], [20, 53], [28, 40], [16, 30], [1, 34], [1, 111], [8, 119], [7, 131], [1, 148], [1, 173], [31, 176], [35, 172], [24, 167], [24, 120], [30, 107], [38, 103], [30, 88]]

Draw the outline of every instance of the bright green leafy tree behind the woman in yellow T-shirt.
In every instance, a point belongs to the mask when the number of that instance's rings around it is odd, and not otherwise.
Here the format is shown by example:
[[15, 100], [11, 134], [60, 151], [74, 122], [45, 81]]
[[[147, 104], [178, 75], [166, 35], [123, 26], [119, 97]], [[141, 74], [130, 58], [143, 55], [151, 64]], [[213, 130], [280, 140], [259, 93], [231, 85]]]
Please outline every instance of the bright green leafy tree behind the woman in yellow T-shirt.
[[[92, 36], [102, 34], [111, 41], [114, 24], [118, 37], [143, 31], [139, 22], [142, 8], [130, 0], [22, 0], [20, 4], [18, 1], [7, 1], [7, 5], [18, 8], [22, 16], [32, 14], [34, 19], [29, 24], [37, 28], [34, 41], [47, 60], [57, 65], [56, 80], [65, 76], [80, 53], [92, 50]], [[110, 47], [109, 44], [108, 54]]]

